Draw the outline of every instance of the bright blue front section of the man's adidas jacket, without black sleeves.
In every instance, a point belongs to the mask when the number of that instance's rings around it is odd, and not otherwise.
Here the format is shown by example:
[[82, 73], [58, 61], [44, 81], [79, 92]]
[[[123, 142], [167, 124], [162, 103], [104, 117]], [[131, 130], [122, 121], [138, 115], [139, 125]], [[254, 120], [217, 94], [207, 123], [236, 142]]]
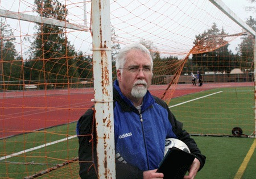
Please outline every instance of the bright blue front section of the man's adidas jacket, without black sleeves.
[[128, 104], [115, 101], [115, 153], [119, 153], [128, 164], [137, 166], [140, 170], [158, 168], [164, 156], [165, 139], [177, 138], [168, 120], [168, 110], [156, 103], [147, 91], [139, 114], [129, 99], [122, 95], [117, 81], [114, 88]]

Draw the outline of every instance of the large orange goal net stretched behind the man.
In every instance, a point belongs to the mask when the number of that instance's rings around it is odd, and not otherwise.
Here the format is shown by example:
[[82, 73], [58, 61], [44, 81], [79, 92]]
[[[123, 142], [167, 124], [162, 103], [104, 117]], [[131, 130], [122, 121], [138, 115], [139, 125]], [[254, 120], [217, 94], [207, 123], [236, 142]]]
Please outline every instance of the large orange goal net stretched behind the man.
[[[254, 136], [256, 19], [214, 2], [110, 1], [113, 81], [119, 50], [142, 43], [150, 92], [190, 134]], [[97, 73], [91, 3], [0, 1], [0, 178], [79, 177], [76, 122]]]

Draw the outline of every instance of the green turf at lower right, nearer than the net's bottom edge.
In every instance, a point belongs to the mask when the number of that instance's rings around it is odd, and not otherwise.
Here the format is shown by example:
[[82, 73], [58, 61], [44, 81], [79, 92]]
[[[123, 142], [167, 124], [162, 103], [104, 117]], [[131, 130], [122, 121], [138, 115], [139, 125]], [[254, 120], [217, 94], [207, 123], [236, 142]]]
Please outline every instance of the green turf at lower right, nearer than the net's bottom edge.
[[[204, 168], [196, 178], [234, 178], [240, 165], [245, 159], [253, 138], [229, 138], [213, 136], [193, 137], [201, 152], [207, 156]], [[255, 177], [255, 157], [253, 153], [242, 178]]]

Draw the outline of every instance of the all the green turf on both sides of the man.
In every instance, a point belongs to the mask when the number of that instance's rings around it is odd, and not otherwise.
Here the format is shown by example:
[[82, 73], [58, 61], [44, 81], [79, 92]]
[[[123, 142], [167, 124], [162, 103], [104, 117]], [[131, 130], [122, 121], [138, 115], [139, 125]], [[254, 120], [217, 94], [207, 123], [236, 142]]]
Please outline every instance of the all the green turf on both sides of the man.
[[[171, 107], [171, 111], [178, 120], [184, 123], [184, 128], [189, 133], [208, 134], [208, 136], [192, 136], [201, 152], [207, 156], [207, 162], [196, 178], [234, 178], [251, 144], [256, 140], [227, 137], [232, 135], [232, 128], [236, 126], [240, 126], [245, 134], [253, 132], [253, 87], [201, 91], [174, 98], [171, 100], [170, 106], [217, 91], [222, 92]], [[76, 133], [75, 129], [76, 123], [70, 123], [2, 139], [0, 140], [0, 157], [73, 136]], [[219, 135], [219, 137], [211, 135]], [[78, 147], [77, 138], [73, 138], [1, 160], [0, 178], [24, 178], [49, 168], [52, 169], [51, 172], [38, 176], [38, 178], [79, 178], [78, 161], [57, 169], [52, 168], [57, 164], [75, 159]], [[255, 177], [255, 161], [256, 154], [254, 152], [242, 178]]]

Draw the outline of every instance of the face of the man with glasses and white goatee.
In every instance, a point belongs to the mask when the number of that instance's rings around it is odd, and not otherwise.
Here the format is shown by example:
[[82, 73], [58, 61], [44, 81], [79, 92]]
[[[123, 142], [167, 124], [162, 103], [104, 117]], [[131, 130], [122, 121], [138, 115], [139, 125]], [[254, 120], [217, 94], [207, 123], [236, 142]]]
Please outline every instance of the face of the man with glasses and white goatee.
[[126, 56], [122, 73], [117, 71], [119, 87], [127, 98], [143, 98], [151, 85], [152, 71], [150, 57], [138, 50]]

